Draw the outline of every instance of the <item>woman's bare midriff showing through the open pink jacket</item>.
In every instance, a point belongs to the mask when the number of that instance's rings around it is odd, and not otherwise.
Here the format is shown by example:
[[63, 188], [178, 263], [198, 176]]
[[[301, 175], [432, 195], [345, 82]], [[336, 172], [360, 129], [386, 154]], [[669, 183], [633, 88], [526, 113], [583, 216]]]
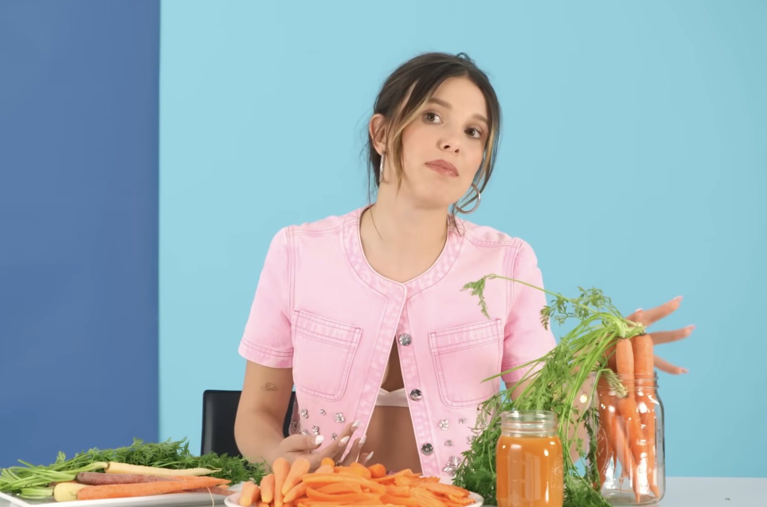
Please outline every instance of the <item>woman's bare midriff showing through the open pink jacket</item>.
[[[400, 367], [400, 356], [396, 342], [392, 346], [389, 364], [381, 387], [387, 391], [405, 386]], [[367, 440], [363, 453], [375, 454], [370, 463], [381, 463], [387, 470], [411, 469], [421, 472], [416, 435], [413, 421], [407, 407], [375, 407], [367, 428]]]

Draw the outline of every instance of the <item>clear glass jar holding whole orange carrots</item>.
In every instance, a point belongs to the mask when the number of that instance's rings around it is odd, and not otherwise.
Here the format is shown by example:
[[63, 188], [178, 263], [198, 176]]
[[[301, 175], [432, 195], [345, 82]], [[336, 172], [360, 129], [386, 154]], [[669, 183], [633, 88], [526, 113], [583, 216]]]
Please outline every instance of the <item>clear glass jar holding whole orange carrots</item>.
[[666, 492], [657, 374], [617, 377], [620, 384], [614, 385], [600, 377], [594, 397], [601, 494], [611, 505], [652, 505]]

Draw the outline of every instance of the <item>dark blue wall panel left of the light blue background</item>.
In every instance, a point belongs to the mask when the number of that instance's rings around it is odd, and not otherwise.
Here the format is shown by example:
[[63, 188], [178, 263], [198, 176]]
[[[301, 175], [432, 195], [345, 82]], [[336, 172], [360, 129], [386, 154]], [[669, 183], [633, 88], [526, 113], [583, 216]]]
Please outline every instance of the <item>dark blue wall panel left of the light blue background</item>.
[[0, 2], [0, 466], [157, 438], [159, 30]]

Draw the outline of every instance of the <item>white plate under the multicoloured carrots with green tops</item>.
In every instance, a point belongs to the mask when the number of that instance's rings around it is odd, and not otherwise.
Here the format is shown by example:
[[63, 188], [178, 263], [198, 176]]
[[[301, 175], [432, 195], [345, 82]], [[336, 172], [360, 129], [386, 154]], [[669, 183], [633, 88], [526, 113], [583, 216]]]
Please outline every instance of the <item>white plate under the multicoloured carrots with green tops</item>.
[[[232, 486], [231, 489], [232, 491], [239, 491], [242, 489], [242, 484]], [[236, 495], [239, 497], [239, 493]], [[134, 507], [184, 507], [186, 505], [212, 505], [214, 502], [222, 503], [225, 498], [227, 497], [224, 495], [211, 495], [210, 493], [166, 493], [164, 495], [133, 496], [127, 499], [80, 500], [66, 502], [64, 505], [72, 505], [72, 507], [117, 507], [118, 505], [126, 505], [126, 507], [129, 505]], [[48, 504], [62, 505], [56, 502], [53, 497], [44, 500], [31, 500], [0, 492], [0, 507], [8, 507], [8, 505], [40, 507], [40, 505]]]

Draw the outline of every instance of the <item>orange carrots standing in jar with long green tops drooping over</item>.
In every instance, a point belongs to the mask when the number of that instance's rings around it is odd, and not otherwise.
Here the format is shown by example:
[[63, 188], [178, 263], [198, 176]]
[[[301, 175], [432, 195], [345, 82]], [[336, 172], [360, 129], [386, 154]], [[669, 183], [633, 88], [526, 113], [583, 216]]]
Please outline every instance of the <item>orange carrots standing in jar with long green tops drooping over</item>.
[[[544, 328], [548, 329], [552, 318], [560, 325], [571, 319], [577, 323], [548, 354], [515, 368], [528, 368], [519, 384], [530, 380], [517, 399], [512, 400], [513, 387], [509, 387], [482, 403], [476, 436], [471, 448], [463, 453], [464, 460], [456, 469], [454, 484], [479, 493], [489, 505], [498, 505], [495, 448], [501, 434], [501, 413], [551, 410], [558, 416], [558, 434], [564, 451], [566, 507], [609, 507], [600, 490], [611, 459], [613, 463], [616, 460], [621, 463], [623, 476], [630, 480], [637, 503], [642, 489], [649, 488], [658, 499], [653, 452], [653, 341], [644, 326], [625, 319], [610, 298], [596, 288], [579, 287], [578, 298], [565, 298], [525, 281], [499, 275], [487, 275], [463, 287], [479, 298], [479, 306], [487, 318], [484, 288], [486, 281], [493, 278], [528, 285], [555, 296], [541, 310]], [[506, 373], [509, 372], [502, 374]], [[574, 404], [581, 398], [588, 381], [593, 382], [588, 399], [594, 400], [595, 393], [599, 394], [597, 407], [578, 410]], [[574, 428], [578, 426], [583, 426], [588, 434], [588, 449], [584, 449], [583, 439], [575, 433]], [[584, 464], [583, 475], [570, 449], [576, 449], [578, 463]], [[640, 463], [644, 466], [640, 467]]]

